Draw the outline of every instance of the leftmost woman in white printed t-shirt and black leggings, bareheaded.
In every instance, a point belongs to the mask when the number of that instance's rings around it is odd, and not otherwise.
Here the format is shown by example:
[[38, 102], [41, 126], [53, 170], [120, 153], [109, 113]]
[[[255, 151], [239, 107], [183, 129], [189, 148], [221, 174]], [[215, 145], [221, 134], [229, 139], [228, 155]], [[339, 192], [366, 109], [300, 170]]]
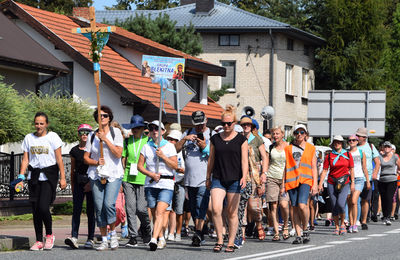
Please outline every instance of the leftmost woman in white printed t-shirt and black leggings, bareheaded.
[[[55, 236], [52, 231], [50, 205], [56, 196], [58, 171], [60, 171], [60, 187], [65, 189], [64, 164], [61, 156], [63, 142], [54, 132], [48, 132], [48, 117], [43, 112], [35, 115], [35, 133], [25, 136], [22, 142], [24, 155], [18, 178], [25, 180], [28, 169], [29, 200], [32, 203], [33, 224], [36, 242], [31, 250], [50, 250], [54, 246]], [[46, 229], [46, 242], [43, 245], [43, 223]]]

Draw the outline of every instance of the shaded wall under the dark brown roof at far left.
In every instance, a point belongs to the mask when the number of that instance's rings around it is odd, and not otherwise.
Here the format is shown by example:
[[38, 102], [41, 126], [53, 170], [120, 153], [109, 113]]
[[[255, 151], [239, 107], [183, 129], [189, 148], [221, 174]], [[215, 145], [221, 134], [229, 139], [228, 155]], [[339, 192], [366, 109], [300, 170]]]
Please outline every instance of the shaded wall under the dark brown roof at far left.
[[28, 91], [35, 92], [39, 78], [38, 73], [3, 66], [0, 66], [0, 75], [4, 76], [5, 83], [13, 85], [21, 95], [28, 94]]

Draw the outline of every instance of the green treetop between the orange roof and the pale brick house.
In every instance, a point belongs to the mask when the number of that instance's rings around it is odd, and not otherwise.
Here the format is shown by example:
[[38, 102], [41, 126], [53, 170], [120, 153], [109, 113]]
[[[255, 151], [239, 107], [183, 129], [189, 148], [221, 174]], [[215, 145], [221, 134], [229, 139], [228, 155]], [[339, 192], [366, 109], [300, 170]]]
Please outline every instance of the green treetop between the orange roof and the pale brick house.
[[170, 20], [167, 14], [159, 15], [154, 20], [149, 16], [131, 16], [125, 21], [115, 21], [119, 27], [164, 44], [171, 48], [181, 50], [190, 55], [199, 55], [202, 52], [201, 36], [196, 33], [192, 24], [180, 30], [175, 29], [176, 21]]

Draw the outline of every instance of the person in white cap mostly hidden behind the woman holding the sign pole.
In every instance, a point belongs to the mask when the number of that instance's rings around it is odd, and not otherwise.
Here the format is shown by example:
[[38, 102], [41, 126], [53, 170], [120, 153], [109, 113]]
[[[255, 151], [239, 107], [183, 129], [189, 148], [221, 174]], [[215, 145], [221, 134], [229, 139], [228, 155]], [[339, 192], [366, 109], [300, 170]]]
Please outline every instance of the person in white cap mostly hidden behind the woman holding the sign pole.
[[[172, 124], [173, 125], [173, 124]], [[171, 125], [171, 126], [172, 126]], [[180, 128], [179, 128], [180, 129]], [[172, 144], [176, 144], [182, 136], [180, 130], [171, 130], [166, 139]], [[172, 197], [172, 209], [169, 214], [169, 235], [168, 240], [181, 241], [182, 223], [183, 223], [183, 204], [185, 203], [185, 161], [182, 151], [178, 153], [178, 169], [175, 171], [175, 189]], [[176, 234], [174, 234], [176, 230]]]

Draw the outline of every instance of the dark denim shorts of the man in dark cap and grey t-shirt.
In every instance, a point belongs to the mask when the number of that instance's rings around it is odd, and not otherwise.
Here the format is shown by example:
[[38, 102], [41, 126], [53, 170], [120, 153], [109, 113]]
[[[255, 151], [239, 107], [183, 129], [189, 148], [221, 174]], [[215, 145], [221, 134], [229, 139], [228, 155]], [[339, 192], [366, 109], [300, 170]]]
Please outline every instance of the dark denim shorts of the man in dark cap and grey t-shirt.
[[206, 186], [186, 187], [189, 195], [189, 208], [194, 219], [206, 219], [210, 191]]

